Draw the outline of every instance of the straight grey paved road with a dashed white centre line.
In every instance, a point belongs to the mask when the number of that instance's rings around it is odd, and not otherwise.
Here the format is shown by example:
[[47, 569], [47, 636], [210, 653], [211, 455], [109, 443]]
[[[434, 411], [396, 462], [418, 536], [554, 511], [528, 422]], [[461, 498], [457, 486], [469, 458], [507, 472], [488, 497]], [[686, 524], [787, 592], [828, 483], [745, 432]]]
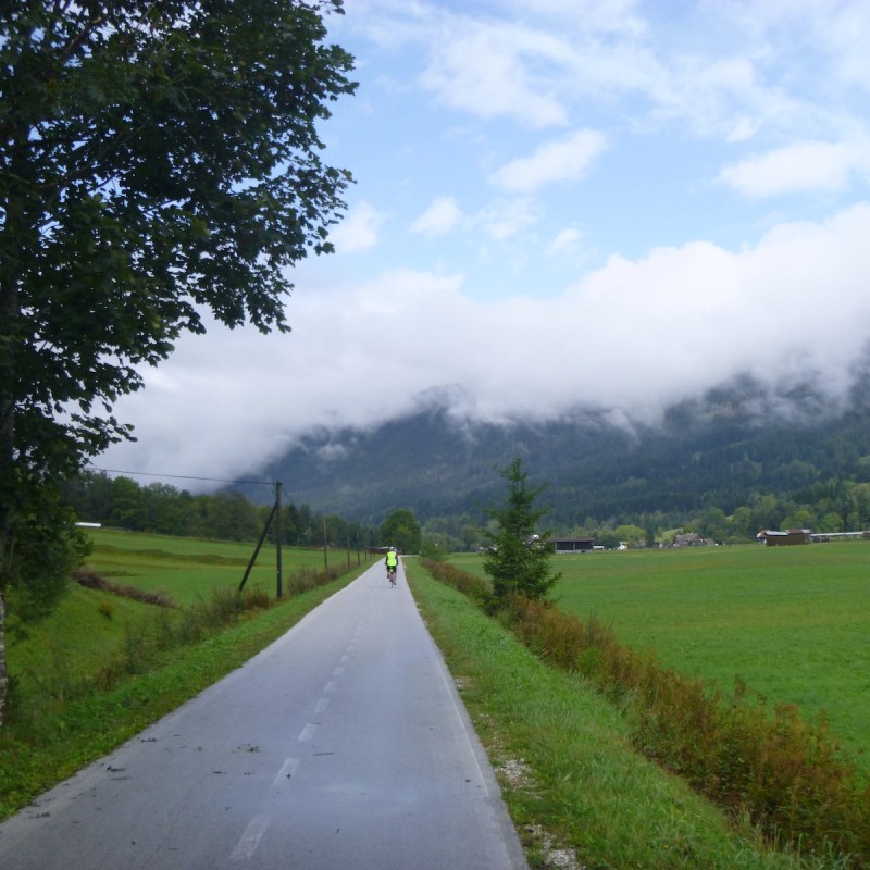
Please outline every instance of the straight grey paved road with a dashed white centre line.
[[400, 571], [0, 824], [3, 870], [525, 868]]

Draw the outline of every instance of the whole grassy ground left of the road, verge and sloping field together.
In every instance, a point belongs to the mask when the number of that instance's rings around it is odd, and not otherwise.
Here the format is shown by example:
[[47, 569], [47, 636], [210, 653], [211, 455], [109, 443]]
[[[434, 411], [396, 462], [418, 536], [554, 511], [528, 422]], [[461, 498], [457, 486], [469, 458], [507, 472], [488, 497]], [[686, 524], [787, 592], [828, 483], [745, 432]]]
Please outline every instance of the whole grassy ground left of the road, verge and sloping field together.
[[[72, 584], [50, 618], [10, 632], [0, 819], [241, 666], [360, 573], [352, 554], [352, 570], [323, 583], [313, 575], [322, 551], [285, 548], [282, 602], [233, 612], [227, 623], [253, 545], [109, 531], [94, 539], [95, 572], [184, 607]], [[328, 560], [347, 569], [344, 552]], [[274, 548], [263, 547], [248, 587], [254, 604], [266, 587], [274, 595]]]

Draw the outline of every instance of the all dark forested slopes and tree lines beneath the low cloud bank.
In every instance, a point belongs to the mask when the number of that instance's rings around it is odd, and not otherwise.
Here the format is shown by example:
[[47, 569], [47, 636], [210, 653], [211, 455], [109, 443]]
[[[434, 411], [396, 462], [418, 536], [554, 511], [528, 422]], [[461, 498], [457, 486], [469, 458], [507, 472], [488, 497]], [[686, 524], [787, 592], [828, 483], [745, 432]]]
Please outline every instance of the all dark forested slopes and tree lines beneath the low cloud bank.
[[[656, 424], [613, 425], [588, 409], [550, 422], [458, 424], [433, 405], [365, 432], [314, 432], [257, 471], [283, 483], [287, 544], [378, 544], [384, 520], [407, 509], [427, 539], [470, 550], [504, 498], [498, 470], [514, 457], [546, 486], [549, 531], [605, 546], [681, 531], [736, 543], [762, 529], [865, 530], [870, 376], [845, 411], [806, 388], [771, 397], [744, 381], [674, 405]], [[84, 521], [228, 539], [256, 539], [273, 500], [269, 486], [191, 495], [95, 472], [67, 486]]]

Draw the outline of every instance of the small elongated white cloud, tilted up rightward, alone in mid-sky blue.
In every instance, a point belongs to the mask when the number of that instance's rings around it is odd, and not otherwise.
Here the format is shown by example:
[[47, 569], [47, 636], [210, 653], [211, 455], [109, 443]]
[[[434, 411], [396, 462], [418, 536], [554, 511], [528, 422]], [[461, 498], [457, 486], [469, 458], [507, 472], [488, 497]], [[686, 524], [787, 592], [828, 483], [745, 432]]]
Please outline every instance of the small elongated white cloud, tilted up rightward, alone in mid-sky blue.
[[494, 172], [489, 181], [519, 194], [533, 194], [557, 182], [579, 182], [606, 147], [607, 139], [602, 134], [589, 129], [575, 130], [544, 142], [531, 157], [511, 160]]

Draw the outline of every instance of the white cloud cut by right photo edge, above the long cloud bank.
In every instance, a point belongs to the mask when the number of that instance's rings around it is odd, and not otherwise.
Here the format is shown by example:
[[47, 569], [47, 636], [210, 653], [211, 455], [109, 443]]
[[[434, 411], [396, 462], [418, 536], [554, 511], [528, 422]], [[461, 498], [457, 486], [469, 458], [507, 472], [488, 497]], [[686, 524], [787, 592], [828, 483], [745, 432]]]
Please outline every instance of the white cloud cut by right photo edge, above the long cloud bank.
[[750, 198], [840, 190], [853, 173], [870, 172], [870, 147], [808, 141], [748, 158], [719, 174], [719, 181]]

